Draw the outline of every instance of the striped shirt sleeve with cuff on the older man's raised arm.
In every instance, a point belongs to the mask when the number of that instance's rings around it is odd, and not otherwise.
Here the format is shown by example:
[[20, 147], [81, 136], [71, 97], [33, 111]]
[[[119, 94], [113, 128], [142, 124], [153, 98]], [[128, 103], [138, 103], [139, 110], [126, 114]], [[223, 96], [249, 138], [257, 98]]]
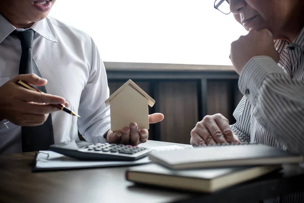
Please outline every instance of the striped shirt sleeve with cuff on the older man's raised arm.
[[272, 58], [257, 56], [245, 65], [239, 89], [258, 122], [289, 150], [304, 154], [304, 82], [290, 79]]

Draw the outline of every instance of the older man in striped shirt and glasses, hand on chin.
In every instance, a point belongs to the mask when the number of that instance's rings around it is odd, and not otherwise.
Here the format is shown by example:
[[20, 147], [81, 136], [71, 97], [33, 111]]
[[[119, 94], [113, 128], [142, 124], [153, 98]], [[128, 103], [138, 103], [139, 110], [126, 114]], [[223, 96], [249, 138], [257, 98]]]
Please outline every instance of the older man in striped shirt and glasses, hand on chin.
[[218, 3], [230, 4], [248, 30], [231, 44], [230, 55], [244, 97], [235, 124], [221, 114], [205, 116], [191, 131], [191, 144], [254, 142], [304, 155], [304, 1], [226, 0], [216, 1], [217, 9]]

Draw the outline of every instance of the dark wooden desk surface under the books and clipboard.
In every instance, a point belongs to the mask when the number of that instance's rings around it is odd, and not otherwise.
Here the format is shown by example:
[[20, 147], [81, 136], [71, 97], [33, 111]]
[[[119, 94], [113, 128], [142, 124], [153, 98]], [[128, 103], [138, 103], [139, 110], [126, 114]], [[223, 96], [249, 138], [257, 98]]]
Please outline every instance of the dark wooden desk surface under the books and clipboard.
[[[144, 145], [172, 144], [148, 141]], [[254, 202], [304, 190], [303, 170], [298, 166], [285, 166], [280, 175], [204, 195], [135, 186], [125, 180], [127, 167], [32, 173], [33, 158], [33, 152], [0, 156], [0, 202]]]

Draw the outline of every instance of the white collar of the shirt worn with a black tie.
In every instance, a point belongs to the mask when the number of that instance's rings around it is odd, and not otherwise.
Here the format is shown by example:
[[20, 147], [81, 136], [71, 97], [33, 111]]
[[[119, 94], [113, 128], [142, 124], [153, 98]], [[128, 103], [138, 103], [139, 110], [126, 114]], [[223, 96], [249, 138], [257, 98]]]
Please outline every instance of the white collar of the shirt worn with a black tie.
[[[35, 32], [37, 32], [39, 35], [44, 37], [47, 40], [50, 40], [52, 42], [56, 42], [57, 40], [53, 36], [53, 33], [48, 25], [47, 19], [43, 19], [41, 21], [35, 22], [31, 29], [33, 29]], [[6, 39], [12, 31], [16, 29], [14, 25], [12, 25], [2, 14], [0, 14], [0, 43]]]

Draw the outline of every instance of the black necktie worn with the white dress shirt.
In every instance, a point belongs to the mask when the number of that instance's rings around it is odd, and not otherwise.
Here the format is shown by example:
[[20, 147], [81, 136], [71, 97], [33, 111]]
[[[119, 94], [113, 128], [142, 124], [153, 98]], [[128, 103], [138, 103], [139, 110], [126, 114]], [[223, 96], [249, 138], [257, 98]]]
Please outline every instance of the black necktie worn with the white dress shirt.
[[[11, 35], [17, 36], [21, 42], [22, 54], [19, 65], [19, 74], [33, 73], [41, 77], [37, 65], [32, 57], [34, 33], [34, 30], [27, 29], [25, 31], [13, 31]], [[47, 93], [45, 86], [36, 88]], [[21, 131], [23, 152], [47, 150], [50, 145], [54, 144], [51, 114], [44, 124], [33, 127], [21, 127]]]

